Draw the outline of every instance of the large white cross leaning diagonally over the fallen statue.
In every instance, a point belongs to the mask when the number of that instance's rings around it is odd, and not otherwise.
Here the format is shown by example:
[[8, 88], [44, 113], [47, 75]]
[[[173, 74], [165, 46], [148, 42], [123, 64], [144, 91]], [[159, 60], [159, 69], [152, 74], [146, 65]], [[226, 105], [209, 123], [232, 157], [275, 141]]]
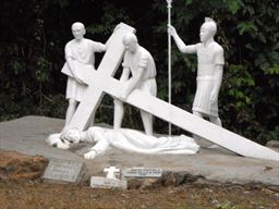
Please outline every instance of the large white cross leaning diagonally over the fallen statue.
[[[125, 28], [128, 28], [126, 25]], [[110, 45], [112, 49], [117, 47], [121, 49], [121, 56], [119, 53], [116, 54], [114, 50], [108, 49], [101, 61], [101, 64], [106, 62], [106, 65], [100, 64], [97, 71], [94, 71], [89, 65], [83, 69], [83, 79], [89, 84], [89, 86], [70, 126], [84, 130], [89, 119], [88, 115], [97, 109], [104, 93], [119, 98], [124, 86], [118, 79], [111, 77], [113, 73], [108, 74], [107, 71], [113, 72], [121, 61], [123, 54], [121, 36], [128, 30], [119, 30], [119, 36], [113, 39]], [[69, 71], [64, 73], [71, 76]], [[258, 145], [223, 127], [217, 126], [138, 89], [133, 90], [125, 102], [241, 156], [279, 161], [279, 153], [277, 151]]]

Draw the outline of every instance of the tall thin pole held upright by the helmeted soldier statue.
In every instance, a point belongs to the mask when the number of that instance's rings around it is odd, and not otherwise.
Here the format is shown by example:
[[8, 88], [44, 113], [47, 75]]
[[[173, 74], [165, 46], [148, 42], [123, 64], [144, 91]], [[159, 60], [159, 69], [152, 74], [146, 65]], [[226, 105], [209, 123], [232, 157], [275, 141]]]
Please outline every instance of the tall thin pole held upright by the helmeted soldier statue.
[[[171, 2], [167, 0], [168, 8], [168, 25], [171, 25]], [[171, 36], [168, 33], [168, 74], [169, 74], [169, 103], [171, 103]], [[171, 136], [171, 123], [169, 123], [169, 135]]]

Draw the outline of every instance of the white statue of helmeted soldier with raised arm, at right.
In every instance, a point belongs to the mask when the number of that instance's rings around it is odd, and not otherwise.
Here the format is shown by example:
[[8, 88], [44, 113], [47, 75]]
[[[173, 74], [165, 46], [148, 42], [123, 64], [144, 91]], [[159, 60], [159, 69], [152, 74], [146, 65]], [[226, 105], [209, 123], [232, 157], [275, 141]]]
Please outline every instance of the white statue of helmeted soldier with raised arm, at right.
[[206, 17], [201, 27], [201, 42], [186, 46], [179, 37], [175, 28], [168, 26], [179, 50], [182, 53], [197, 54], [196, 93], [193, 102], [193, 114], [209, 118], [209, 121], [221, 126], [218, 115], [218, 94], [223, 73], [223, 49], [214, 40], [217, 25], [213, 19]]

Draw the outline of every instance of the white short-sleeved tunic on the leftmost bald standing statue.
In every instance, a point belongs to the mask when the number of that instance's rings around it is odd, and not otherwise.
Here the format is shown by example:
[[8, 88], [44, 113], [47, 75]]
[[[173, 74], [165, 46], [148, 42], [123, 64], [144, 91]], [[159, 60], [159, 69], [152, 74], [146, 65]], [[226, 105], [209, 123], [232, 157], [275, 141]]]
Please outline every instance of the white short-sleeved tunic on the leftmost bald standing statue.
[[[101, 42], [96, 42], [87, 38], [83, 38], [81, 42], [77, 42], [76, 39], [70, 40], [65, 46], [65, 59], [71, 58], [75, 62], [81, 64], [89, 64], [94, 69], [95, 64], [95, 52], [101, 52], [106, 50], [106, 46]], [[77, 67], [77, 74], [82, 74], [83, 69]], [[77, 83], [74, 78], [68, 76], [66, 83], [66, 99], [74, 99], [81, 101], [82, 96], [87, 88], [87, 85]]]

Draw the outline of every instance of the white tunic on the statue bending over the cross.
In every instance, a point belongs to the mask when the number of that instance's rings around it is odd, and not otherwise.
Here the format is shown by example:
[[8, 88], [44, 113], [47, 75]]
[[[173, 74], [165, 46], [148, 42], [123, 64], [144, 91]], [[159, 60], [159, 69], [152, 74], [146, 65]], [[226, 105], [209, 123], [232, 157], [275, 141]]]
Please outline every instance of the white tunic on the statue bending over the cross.
[[136, 75], [138, 66], [144, 69], [144, 74], [137, 88], [153, 96], [157, 95], [156, 65], [151, 54], [146, 49], [140, 46], [135, 54], [126, 51], [122, 66], [130, 69], [133, 75]]

